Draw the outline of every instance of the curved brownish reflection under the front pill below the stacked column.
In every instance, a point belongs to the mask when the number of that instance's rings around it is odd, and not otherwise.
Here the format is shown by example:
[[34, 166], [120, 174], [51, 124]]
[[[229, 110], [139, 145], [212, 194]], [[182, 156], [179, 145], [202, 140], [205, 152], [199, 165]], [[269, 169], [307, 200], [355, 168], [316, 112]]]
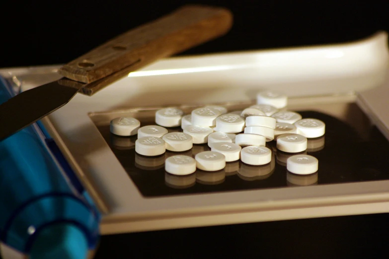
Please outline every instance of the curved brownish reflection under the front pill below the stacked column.
[[269, 178], [273, 174], [275, 165], [276, 162], [274, 158], [272, 158], [270, 163], [260, 166], [241, 163], [238, 171], [238, 177], [245, 181], [263, 180]]

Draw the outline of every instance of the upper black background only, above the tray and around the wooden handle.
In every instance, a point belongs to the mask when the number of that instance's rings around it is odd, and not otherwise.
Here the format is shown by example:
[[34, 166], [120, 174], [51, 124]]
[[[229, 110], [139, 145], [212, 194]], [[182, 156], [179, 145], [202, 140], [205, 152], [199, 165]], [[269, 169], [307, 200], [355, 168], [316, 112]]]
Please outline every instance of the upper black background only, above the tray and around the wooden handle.
[[234, 25], [184, 54], [347, 42], [389, 31], [388, 0], [4, 0], [0, 67], [67, 63], [186, 3], [225, 6]]

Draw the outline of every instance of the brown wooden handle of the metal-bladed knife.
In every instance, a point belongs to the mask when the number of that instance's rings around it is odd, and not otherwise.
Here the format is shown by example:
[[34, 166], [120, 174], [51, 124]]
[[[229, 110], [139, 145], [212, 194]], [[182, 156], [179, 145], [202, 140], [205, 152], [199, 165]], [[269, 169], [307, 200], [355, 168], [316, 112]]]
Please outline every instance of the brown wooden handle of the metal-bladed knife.
[[[92, 94], [108, 81], [221, 36], [231, 28], [232, 14], [219, 7], [188, 5], [119, 35], [64, 65], [59, 73], [87, 83]], [[113, 78], [97, 80], [111, 75]], [[89, 85], [89, 83], [95, 82]]]

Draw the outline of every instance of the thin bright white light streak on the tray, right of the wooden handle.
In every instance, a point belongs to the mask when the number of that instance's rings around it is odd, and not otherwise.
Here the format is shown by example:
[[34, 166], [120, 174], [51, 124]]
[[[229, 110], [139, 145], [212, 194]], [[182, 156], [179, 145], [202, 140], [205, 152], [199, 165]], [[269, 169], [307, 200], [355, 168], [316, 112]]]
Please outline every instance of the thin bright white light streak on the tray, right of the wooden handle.
[[165, 75], [165, 74], [183, 74], [183, 73], [196, 73], [196, 72], [211, 72], [211, 71], [231, 70], [231, 69], [237, 69], [237, 68], [246, 68], [249, 66], [252, 66], [252, 65], [214, 65], [214, 66], [202, 66], [202, 67], [160, 69], [160, 70], [150, 70], [150, 71], [134, 71], [134, 72], [129, 73], [128, 77]]

